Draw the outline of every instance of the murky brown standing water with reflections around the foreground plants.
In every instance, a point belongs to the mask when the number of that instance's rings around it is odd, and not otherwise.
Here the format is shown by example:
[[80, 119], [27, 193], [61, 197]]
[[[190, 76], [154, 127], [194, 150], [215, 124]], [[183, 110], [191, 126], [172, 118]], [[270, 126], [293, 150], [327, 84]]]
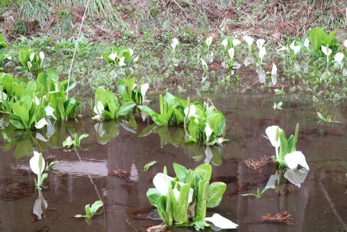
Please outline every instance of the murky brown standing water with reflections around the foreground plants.
[[[212, 156], [205, 155], [205, 147], [182, 146], [182, 129], [149, 128], [140, 117], [136, 117], [133, 128], [115, 122], [95, 124], [87, 109], [78, 122], [56, 123], [55, 132], [41, 131], [42, 137], [21, 137], [18, 132], [8, 131], [18, 140], [1, 140], [0, 231], [146, 231], [146, 227], [160, 224], [149, 218], [156, 216], [148, 213], [146, 191], [153, 188], [153, 176], [162, 172], [164, 165], [168, 174], [174, 175], [173, 162], [192, 169], [203, 162], [214, 165], [213, 179], [226, 182], [227, 190], [221, 204], [209, 209], [209, 213], [219, 213], [239, 224], [237, 231], [347, 231], [347, 107], [313, 105], [310, 99], [298, 95], [212, 97], [214, 105], [226, 116], [226, 138], [230, 139], [225, 147], [212, 148]], [[194, 100], [203, 101], [198, 97]], [[271, 108], [275, 101], [283, 101], [283, 110]], [[158, 98], [153, 97], [151, 104], [158, 105]], [[340, 123], [318, 123], [317, 111]], [[257, 160], [274, 154], [275, 149], [263, 137], [266, 127], [279, 125], [289, 137], [296, 123], [300, 124], [296, 148], [303, 151], [310, 166], [301, 188], [281, 176], [280, 186], [267, 191], [267, 196], [243, 197], [257, 188], [262, 190], [276, 171], [273, 163], [256, 170], [244, 163], [246, 158]], [[79, 151], [82, 162], [74, 151], [63, 151], [60, 145], [75, 132], [90, 135]], [[42, 151], [44, 158], [53, 156], [60, 161], [54, 166], [59, 172], [49, 172], [44, 181], [47, 188], [42, 190], [42, 196], [48, 207], [40, 220], [33, 214], [39, 192], [33, 191], [36, 176], [26, 156], [34, 149]], [[158, 163], [142, 172], [152, 160]], [[115, 169], [130, 171], [129, 179], [108, 174]], [[94, 217], [88, 225], [74, 215], [84, 213], [86, 204], [99, 200], [96, 190], [105, 203], [105, 214]], [[284, 211], [291, 214], [293, 219], [289, 221], [295, 225], [260, 222], [266, 213]]]

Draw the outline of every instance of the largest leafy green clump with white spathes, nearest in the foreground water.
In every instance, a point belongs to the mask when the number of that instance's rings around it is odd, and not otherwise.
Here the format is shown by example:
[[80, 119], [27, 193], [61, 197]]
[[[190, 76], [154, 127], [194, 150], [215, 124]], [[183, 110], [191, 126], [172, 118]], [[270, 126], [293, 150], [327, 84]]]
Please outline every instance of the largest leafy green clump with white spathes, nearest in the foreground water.
[[188, 170], [174, 163], [174, 171], [175, 178], [167, 176], [164, 167], [164, 172], [156, 174], [153, 179], [155, 188], [150, 188], [146, 194], [165, 225], [194, 226], [199, 230], [212, 222], [223, 229], [237, 227], [237, 224], [217, 214], [206, 217], [206, 209], [218, 206], [226, 190], [225, 183], [210, 183], [211, 165], [203, 164]]

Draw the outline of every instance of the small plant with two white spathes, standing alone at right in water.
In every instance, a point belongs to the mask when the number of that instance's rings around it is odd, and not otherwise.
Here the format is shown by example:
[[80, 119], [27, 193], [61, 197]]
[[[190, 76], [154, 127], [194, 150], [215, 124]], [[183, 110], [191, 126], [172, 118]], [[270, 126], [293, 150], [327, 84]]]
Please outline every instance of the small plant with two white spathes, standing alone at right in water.
[[[306, 163], [305, 156], [301, 151], [296, 151], [296, 142], [298, 141], [299, 125], [296, 124], [295, 135], [291, 135], [289, 139], [285, 138], [285, 131], [278, 126], [269, 126], [266, 128], [266, 135], [271, 144], [276, 149], [276, 156], [273, 156], [275, 163], [280, 167], [289, 167], [296, 169], [298, 165], [310, 169]], [[278, 151], [278, 149], [280, 151]]]

